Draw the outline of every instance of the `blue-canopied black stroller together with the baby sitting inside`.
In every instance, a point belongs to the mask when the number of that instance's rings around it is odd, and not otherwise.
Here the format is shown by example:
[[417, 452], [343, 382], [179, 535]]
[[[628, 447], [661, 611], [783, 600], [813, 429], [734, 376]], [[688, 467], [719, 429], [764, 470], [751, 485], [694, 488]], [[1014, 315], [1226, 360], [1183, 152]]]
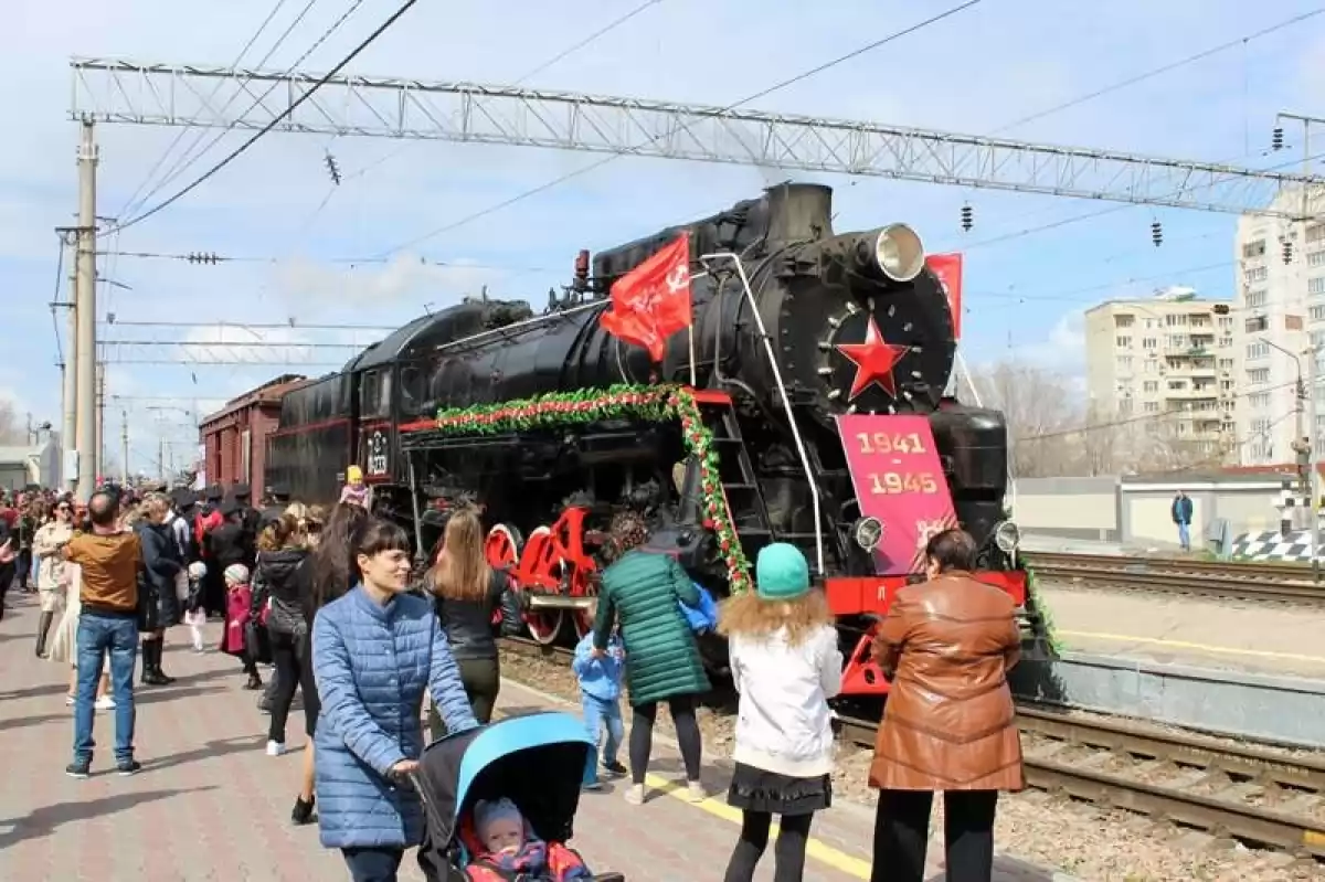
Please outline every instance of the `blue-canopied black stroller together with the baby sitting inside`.
[[433, 742], [412, 775], [428, 882], [625, 882], [566, 845], [594, 744], [570, 714], [513, 716]]

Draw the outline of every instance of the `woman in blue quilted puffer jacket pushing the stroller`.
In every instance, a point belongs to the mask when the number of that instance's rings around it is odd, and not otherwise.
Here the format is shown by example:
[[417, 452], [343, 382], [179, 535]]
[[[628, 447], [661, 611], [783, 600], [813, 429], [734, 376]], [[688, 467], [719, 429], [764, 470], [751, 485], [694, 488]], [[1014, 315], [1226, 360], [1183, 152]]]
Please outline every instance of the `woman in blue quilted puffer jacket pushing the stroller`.
[[359, 584], [313, 622], [318, 826], [354, 882], [395, 882], [405, 849], [423, 838], [423, 809], [405, 776], [424, 748], [424, 689], [448, 731], [478, 723], [432, 603], [405, 593], [405, 532], [372, 520], [354, 548]]

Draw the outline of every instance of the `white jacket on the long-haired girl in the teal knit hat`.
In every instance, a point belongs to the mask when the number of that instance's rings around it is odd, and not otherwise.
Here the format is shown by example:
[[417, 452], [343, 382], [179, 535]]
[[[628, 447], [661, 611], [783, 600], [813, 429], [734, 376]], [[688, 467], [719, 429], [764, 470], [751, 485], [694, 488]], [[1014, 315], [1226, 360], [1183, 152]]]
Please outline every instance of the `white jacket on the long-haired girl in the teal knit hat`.
[[828, 699], [841, 689], [837, 632], [824, 625], [798, 646], [786, 630], [729, 641], [731, 678], [741, 693], [733, 759], [792, 777], [832, 772]]

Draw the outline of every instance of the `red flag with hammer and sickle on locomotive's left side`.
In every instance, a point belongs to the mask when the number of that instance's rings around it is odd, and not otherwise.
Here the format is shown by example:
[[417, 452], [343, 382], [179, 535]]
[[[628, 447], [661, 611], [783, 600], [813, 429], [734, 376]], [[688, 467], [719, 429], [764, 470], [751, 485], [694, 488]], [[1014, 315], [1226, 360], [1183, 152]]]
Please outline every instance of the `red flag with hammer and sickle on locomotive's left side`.
[[662, 360], [666, 338], [690, 327], [690, 234], [680, 237], [612, 285], [612, 306], [599, 318], [612, 336]]

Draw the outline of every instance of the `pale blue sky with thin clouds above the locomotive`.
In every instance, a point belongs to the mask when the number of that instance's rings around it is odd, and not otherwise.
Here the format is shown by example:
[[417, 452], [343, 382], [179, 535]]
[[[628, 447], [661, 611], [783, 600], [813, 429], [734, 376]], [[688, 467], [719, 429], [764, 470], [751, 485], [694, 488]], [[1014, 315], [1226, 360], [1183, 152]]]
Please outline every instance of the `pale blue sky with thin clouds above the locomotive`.
[[[241, 61], [285, 70], [347, 9], [354, 12], [299, 64], [323, 72], [371, 33], [399, 0], [286, 0]], [[729, 105], [901, 30], [959, 0], [659, 0], [566, 57], [637, 0], [501, 4], [421, 0], [347, 69], [417, 79], [517, 83], [595, 94]], [[277, 0], [11, 0], [0, 36], [0, 82], [13, 121], [0, 139], [0, 400], [24, 418], [60, 424], [56, 226], [74, 222], [78, 126], [69, 119], [69, 58], [118, 57], [231, 66]], [[13, 8], [16, 7], [16, 8]], [[306, 16], [278, 41], [302, 9]], [[1073, 11], [1068, 11], [1072, 8]], [[1181, 159], [1281, 166], [1301, 155], [1297, 130], [1271, 154], [1275, 114], [1325, 115], [1325, 15], [1249, 38], [1317, 3], [1268, 0], [980, 0], [937, 24], [864, 52], [749, 105], [1036, 143]], [[1030, 115], [1227, 41], [1228, 50], [1024, 124]], [[236, 102], [229, 113], [244, 110]], [[246, 132], [99, 124], [98, 215], [132, 216], [192, 181]], [[1325, 132], [1317, 138], [1325, 136]], [[1317, 142], [1317, 143], [1325, 143]], [[196, 144], [196, 146], [195, 146]], [[192, 147], [192, 154], [189, 154]], [[330, 180], [330, 154], [342, 173]], [[159, 187], [162, 172], [192, 164]], [[272, 134], [178, 203], [101, 240], [98, 318], [176, 322], [121, 326], [103, 339], [364, 344], [379, 334], [302, 326], [399, 326], [464, 294], [527, 299], [568, 281], [580, 248], [610, 248], [702, 217], [787, 179], [835, 187], [835, 228], [902, 221], [930, 252], [966, 254], [962, 350], [967, 363], [1018, 359], [1084, 373], [1081, 315], [1104, 299], [1190, 285], [1232, 295], [1235, 219], [1179, 209], [998, 193], [751, 166], [624, 158], [507, 208], [379, 256], [431, 230], [600, 160], [549, 150]], [[150, 176], [152, 170], [155, 176]], [[1322, 168], [1317, 168], [1317, 172]], [[146, 184], [146, 187], [144, 187]], [[155, 192], [154, 192], [155, 191]], [[138, 197], [151, 193], [139, 203]], [[974, 228], [961, 228], [961, 208]], [[131, 209], [131, 211], [127, 211]], [[1150, 224], [1163, 225], [1155, 248]], [[132, 257], [211, 252], [211, 265]], [[68, 273], [66, 260], [64, 271]], [[217, 328], [212, 323], [285, 324]], [[294, 327], [289, 327], [293, 324]], [[189, 358], [269, 358], [241, 346], [188, 348]], [[280, 373], [321, 366], [130, 364], [179, 350], [107, 344], [106, 446], [122, 421], [130, 466], [156, 470], [159, 441], [176, 460], [196, 444], [195, 415]], [[343, 362], [344, 348], [292, 356]], [[155, 408], [155, 409], [152, 409]]]

